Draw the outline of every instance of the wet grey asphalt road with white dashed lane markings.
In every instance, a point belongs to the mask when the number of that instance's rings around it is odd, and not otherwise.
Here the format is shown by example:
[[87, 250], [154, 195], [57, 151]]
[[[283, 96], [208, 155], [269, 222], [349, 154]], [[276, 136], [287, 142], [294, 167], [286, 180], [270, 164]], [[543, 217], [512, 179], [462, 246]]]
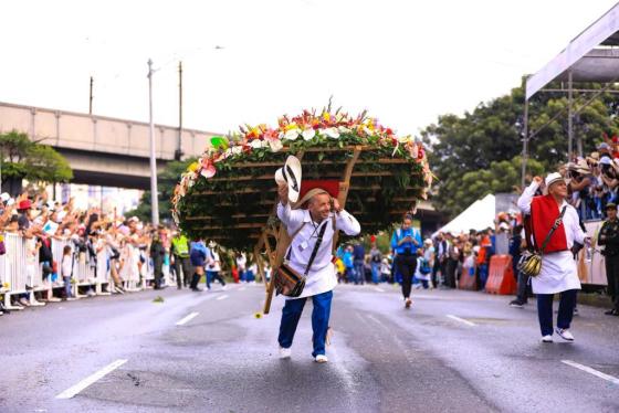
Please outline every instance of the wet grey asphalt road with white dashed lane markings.
[[405, 310], [391, 286], [339, 286], [329, 362], [317, 364], [311, 304], [293, 358], [279, 360], [282, 300], [255, 318], [262, 286], [217, 288], [1, 317], [0, 411], [619, 411], [619, 319], [597, 308], [580, 307], [575, 343], [542, 345], [535, 308], [510, 308], [506, 297], [416, 292]]

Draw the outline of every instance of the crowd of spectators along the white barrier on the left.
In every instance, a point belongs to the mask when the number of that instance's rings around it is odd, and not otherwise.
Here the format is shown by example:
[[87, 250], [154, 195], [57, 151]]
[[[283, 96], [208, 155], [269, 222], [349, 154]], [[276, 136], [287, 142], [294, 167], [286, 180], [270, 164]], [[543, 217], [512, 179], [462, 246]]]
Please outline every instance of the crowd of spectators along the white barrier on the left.
[[[154, 227], [136, 216], [125, 218], [116, 212], [104, 214], [98, 208], [81, 210], [73, 199], [65, 203], [53, 201], [46, 192], [24, 192], [15, 198], [9, 193], [0, 194], [0, 256], [4, 255], [3, 260], [18, 260], [9, 256], [14, 253], [6, 244], [7, 237], [14, 235], [21, 237], [25, 251], [24, 268], [20, 269], [24, 272], [27, 288], [25, 293], [10, 295], [10, 304], [15, 308], [36, 304], [31, 300], [95, 295], [95, 279], [90, 280], [91, 285], [77, 285], [75, 263], [92, 267], [95, 277], [97, 271], [105, 271], [111, 277], [107, 292], [113, 294], [124, 294], [128, 280], [158, 289], [176, 279], [178, 288], [188, 287], [196, 273], [189, 260], [191, 246], [200, 242], [187, 240], [172, 227]], [[62, 257], [53, 254], [55, 242], [63, 242]], [[222, 267], [230, 271], [234, 282], [255, 279], [255, 263], [248, 263], [242, 254], [235, 262], [231, 257], [230, 263], [227, 260], [223, 260], [225, 264], [221, 263], [219, 246], [209, 246], [203, 263], [211, 277], [206, 279], [209, 288], [212, 278], [224, 285]], [[3, 271], [0, 271], [0, 303], [4, 303], [4, 294], [11, 292]], [[38, 271], [49, 289], [36, 288], [41, 287], [36, 285], [40, 283], [35, 277]], [[49, 290], [53, 297], [43, 296]], [[0, 315], [6, 311], [0, 305]]]

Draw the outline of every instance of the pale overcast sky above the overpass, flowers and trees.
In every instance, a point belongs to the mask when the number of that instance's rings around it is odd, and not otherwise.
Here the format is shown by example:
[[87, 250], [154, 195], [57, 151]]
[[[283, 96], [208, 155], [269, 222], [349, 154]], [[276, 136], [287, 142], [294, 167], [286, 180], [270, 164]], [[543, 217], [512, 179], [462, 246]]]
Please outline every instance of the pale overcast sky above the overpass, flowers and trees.
[[[609, 0], [3, 1], [0, 102], [225, 133], [322, 107], [400, 134], [508, 93]], [[219, 49], [222, 47], [222, 49]]]

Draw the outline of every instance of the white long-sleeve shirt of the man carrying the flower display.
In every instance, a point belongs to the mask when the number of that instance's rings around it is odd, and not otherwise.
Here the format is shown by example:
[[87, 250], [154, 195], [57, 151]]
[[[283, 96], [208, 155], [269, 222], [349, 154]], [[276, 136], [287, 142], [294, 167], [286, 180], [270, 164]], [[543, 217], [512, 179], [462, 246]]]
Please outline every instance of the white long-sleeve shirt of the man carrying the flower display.
[[[333, 214], [333, 213], [332, 213]], [[312, 267], [305, 280], [305, 288], [297, 298], [310, 297], [326, 292], [331, 292], [337, 285], [337, 277], [335, 266], [333, 265], [332, 248], [333, 236], [333, 215], [323, 220], [321, 223], [312, 221], [310, 211], [307, 210], [293, 210], [290, 203], [286, 205], [277, 204], [277, 218], [286, 226], [288, 234], [292, 236], [303, 225], [298, 234], [292, 240], [288, 251], [291, 257], [288, 265], [300, 274], [305, 273], [314, 245], [316, 244], [322, 225], [326, 225], [323, 235], [323, 242], [318, 247], [316, 257], [312, 263]], [[335, 213], [335, 227], [347, 235], [357, 235], [361, 231], [361, 225], [346, 211]], [[286, 251], [287, 256], [287, 251]], [[290, 298], [290, 297], [286, 297]]]

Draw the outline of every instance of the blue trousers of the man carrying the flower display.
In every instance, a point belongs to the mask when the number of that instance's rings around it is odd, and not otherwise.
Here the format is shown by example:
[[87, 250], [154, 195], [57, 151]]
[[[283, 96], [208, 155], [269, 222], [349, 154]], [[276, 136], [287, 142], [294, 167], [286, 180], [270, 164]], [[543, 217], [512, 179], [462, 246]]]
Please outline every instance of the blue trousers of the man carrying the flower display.
[[[314, 343], [313, 357], [325, 353], [325, 340], [327, 337], [328, 320], [331, 317], [331, 301], [333, 299], [333, 292], [326, 292], [312, 296], [312, 330], [314, 336], [312, 341]], [[296, 326], [303, 307], [305, 306], [306, 298], [287, 299], [284, 308], [282, 309], [282, 321], [280, 324], [280, 337], [277, 341], [280, 346], [287, 349], [292, 346]]]

